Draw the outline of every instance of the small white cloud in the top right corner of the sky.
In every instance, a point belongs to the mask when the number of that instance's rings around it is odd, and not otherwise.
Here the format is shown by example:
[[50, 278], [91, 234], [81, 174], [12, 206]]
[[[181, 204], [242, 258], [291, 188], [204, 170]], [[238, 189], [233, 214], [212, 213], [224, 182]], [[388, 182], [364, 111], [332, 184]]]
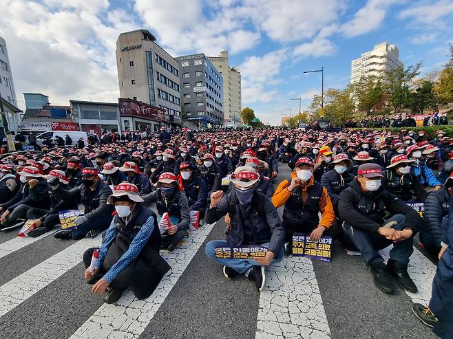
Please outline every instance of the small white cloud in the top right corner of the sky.
[[439, 0], [434, 3], [419, 2], [410, 8], [401, 11], [399, 17], [401, 19], [414, 19], [419, 23], [436, 23], [439, 19], [450, 16], [453, 13], [453, 1]]

